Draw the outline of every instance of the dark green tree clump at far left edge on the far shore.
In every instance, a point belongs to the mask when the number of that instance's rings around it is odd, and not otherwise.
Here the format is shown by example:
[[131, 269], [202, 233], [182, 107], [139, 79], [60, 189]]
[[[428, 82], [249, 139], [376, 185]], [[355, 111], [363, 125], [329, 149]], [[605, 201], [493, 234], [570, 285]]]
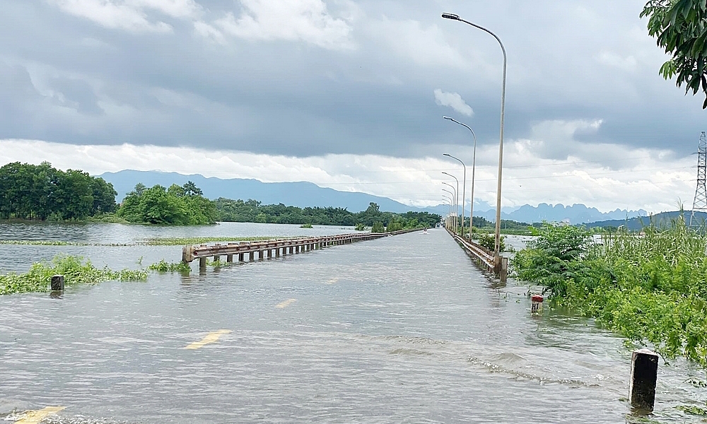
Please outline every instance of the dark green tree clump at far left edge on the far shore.
[[0, 216], [7, 219], [83, 220], [115, 211], [115, 194], [103, 178], [48, 162], [0, 167]]

